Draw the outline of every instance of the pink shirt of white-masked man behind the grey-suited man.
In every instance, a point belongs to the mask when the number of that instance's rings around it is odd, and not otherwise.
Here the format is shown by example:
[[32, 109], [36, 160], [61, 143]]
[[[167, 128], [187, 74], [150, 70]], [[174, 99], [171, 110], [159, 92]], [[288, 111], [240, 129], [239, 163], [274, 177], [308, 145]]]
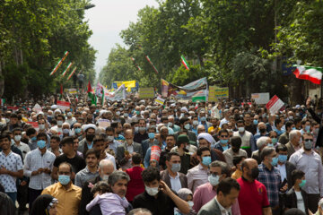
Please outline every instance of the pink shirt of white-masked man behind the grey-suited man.
[[[193, 195], [193, 210], [198, 212], [205, 203], [210, 202], [216, 196], [216, 190], [213, 185], [206, 183], [196, 188], [196, 192]], [[232, 215], [240, 215], [240, 207], [238, 200], [234, 202], [231, 208]]]

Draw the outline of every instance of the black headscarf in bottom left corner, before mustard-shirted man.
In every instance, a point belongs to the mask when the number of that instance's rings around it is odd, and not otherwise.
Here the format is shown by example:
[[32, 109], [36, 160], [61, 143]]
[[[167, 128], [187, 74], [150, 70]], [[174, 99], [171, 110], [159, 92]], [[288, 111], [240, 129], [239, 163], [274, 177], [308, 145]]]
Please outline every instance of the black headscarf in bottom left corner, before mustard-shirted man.
[[46, 211], [48, 210], [48, 206], [50, 206], [51, 202], [57, 202], [53, 196], [49, 194], [42, 194], [36, 198], [36, 200], [32, 203], [31, 214], [32, 215], [47, 215]]

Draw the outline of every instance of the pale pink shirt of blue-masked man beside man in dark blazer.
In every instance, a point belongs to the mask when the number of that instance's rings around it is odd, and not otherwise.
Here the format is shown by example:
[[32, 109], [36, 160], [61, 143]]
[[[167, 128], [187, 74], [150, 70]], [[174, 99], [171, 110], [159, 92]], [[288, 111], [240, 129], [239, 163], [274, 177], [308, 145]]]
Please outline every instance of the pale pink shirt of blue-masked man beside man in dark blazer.
[[207, 172], [208, 169], [203, 168], [201, 164], [198, 164], [196, 167], [189, 169], [187, 175], [188, 189], [190, 189], [194, 193], [197, 186], [207, 183]]

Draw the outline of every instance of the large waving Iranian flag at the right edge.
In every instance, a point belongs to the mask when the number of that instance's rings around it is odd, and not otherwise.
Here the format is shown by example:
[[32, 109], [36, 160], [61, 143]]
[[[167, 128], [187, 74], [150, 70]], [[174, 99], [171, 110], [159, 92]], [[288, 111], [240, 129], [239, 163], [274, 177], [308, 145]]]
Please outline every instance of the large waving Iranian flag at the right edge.
[[320, 84], [322, 79], [322, 67], [313, 67], [307, 65], [293, 65], [296, 70], [293, 72], [298, 79], [309, 80], [310, 82]]

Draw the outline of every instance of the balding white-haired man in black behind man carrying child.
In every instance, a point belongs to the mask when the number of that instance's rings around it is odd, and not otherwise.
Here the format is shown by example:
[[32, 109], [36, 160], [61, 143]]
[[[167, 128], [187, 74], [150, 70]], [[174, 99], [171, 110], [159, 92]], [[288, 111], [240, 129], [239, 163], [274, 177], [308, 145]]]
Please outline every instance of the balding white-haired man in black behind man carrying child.
[[86, 205], [90, 203], [93, 199], [93, 193], [91, 189], [99, 181], [108, 182], [109, 176], [115, 171], [114, 164], [109, 159], [102, 159], [99, 163], [99, 176], [96, 176], [92, 180], [85, 182], [82, 187], [82, 199], [79, 208], [79, 215], [88, 215], [89, 212], [86, 211]]

